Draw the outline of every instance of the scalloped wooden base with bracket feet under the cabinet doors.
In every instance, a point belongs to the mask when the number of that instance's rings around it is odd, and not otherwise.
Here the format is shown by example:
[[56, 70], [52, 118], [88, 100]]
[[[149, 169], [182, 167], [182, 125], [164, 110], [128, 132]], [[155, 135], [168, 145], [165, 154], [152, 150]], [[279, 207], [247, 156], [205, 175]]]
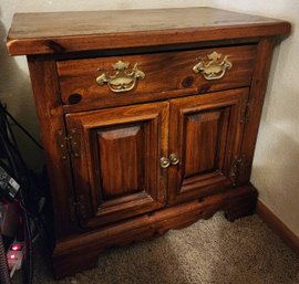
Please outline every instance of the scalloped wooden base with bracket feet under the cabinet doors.
[[225, 211], [229, 221], [234, 221], [254, 213], [256, 202], [257, 190], [247, 185], [60, 240], [53, 252], [54, 275], [61, 278], [96, 266], [100, 252], [109, 246], [126, 245], [133, 241], [162, 235], [171, 229], [182, 229], [199, 219], [208, 219], [220, 210]]

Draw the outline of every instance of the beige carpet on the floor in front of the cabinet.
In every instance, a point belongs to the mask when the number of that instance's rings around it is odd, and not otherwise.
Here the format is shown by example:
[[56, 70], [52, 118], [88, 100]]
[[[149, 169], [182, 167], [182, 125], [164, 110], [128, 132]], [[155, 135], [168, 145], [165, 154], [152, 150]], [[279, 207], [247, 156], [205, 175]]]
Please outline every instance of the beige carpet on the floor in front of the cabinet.
[[153, 241], [107, 250], [97, 269], [59, 282], [39, 256], [35, 283], [299, 284], [299, 257], [257, 215], [230, 223], [217, 213]]

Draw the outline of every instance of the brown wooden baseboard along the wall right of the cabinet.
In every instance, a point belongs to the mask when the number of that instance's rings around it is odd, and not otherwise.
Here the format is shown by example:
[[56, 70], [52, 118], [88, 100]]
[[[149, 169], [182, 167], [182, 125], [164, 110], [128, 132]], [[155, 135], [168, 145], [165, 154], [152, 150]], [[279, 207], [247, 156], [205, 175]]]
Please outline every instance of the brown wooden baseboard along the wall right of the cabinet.
[[299, 255], [299, 238], [260, 200], [257, 202], [257, 214]]

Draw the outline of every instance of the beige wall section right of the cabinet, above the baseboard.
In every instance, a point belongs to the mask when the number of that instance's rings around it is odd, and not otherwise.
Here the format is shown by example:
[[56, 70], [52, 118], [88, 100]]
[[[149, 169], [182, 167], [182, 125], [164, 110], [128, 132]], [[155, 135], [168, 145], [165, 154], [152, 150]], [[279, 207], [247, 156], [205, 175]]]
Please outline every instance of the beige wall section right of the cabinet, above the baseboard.
[[299, 1], [215, 0], [213, 6], [292, 24], [274, 54], [251, 182], [259, 199], [299, 236]]

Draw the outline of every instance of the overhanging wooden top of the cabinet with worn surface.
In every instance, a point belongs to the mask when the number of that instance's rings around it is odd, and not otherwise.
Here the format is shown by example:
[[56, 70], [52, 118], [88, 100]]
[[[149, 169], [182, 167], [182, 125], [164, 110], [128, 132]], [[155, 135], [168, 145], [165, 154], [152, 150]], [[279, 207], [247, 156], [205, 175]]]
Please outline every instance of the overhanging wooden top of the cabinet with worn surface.
[[11, 55], [287, 34], [285, 21], [213, 8], [17, 13]]

